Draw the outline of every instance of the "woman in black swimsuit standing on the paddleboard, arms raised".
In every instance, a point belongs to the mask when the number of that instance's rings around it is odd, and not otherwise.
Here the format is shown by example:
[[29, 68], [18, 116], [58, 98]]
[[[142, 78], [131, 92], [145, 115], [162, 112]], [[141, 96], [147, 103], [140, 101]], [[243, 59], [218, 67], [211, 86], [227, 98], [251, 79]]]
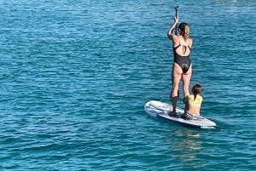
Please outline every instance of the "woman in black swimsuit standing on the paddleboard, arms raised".
[[189, 82], [192, 74], [192, 64], [189, 59], [190, 49], [193, 40], [189, 37], [189, 25], [182, 22], [178, 26], [179, 35], [173, 34], [172, 31], [177, 26], [178, 17], [174, 17], [172, 26], [167, 31], [167, 36], [172, 40], [172, 48], [174, 61], [172, 65], [172, 91], [170, 100], [173, 110], [169, 115], [176, 115], [176, 107], [178, 100], [178, 84], [183, 81], [183, 98], [189, 95]]

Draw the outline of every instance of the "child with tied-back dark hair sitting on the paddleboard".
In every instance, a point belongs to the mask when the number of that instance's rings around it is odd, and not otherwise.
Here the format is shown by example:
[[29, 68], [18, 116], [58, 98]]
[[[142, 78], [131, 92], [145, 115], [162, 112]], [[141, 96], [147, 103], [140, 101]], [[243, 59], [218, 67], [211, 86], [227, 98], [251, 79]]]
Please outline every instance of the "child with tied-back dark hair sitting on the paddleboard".
[[200, 116], [201, 102], [203, 100], [203, 98], [201, 97], [201, 91], [201, 85], [196, 83], [192, 87], [192, 94], [185, 97], [185, 108], [184, 113], [182, 115], [183, 119], [190, 119], [194, 116]]

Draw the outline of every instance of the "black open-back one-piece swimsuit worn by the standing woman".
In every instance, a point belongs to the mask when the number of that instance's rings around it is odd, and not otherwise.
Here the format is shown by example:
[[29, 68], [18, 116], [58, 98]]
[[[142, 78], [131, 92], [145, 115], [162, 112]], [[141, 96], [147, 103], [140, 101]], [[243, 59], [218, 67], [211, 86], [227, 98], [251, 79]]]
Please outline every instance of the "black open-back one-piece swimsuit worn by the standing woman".
[[186, 73], [187, 71], [189, 71], [189, 67], [191, 65], [191, 60], [189, 59], [189, 55], [181, 56], [181, 55], [177, 54], [176, 49], [180, 46], [183, 46], [185, 48], [185, 51], [186, 51], [187, 47], [190, 50], [190, 47], [184, 46], [181, 44], [179, 44], [175, 48], [173, 47], [174, 62], [177, 63], [177, 65], [181, 67], [181, 69], [183, 70], [183, 73]]

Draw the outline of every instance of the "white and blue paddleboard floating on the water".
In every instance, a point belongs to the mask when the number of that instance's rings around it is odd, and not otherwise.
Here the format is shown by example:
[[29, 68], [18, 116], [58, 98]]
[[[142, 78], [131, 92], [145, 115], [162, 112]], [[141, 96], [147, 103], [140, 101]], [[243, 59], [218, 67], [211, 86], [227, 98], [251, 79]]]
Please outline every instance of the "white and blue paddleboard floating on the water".
[[144, 110], [147, 111], [148, 115], [151, 117], [156, 117], [166, 122], [177, 123], [185, 127], [190, 128], [217, 128], [216, 123], [207, 119], [206, 117], [193, 117], [190, 119], [183, 119], [181, 115], [184, 110], [181, 108], [176, 108], [177, 115], [170, 117], [168, 115], [169, 111], [172, 111], [172, 105], [157, 101], [150, 100], [144, 105]]

